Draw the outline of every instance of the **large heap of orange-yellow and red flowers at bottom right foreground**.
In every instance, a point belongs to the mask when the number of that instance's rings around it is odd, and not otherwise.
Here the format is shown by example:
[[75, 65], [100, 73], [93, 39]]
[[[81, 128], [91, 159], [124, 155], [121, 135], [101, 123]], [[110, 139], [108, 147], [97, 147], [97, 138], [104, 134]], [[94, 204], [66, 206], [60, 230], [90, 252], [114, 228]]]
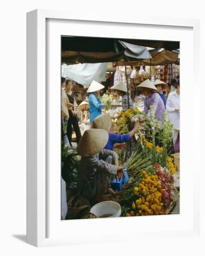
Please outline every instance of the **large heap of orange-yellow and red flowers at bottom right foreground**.
[[141, 173], [141, 183], [134, 188], [135, 201], [126, 216], [167, 214], [173, 202], [167, 168], [154, 164]]

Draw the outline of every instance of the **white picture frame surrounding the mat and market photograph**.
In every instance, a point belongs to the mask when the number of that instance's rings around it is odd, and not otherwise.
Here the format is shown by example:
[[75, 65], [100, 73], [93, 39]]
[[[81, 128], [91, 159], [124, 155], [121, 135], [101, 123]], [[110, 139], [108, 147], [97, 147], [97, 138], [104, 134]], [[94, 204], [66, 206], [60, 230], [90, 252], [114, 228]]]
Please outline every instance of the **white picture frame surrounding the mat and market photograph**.
[[[121, 24], [126, 26], [131, 26], [131, 24], [141, 24], [150, 26], [155, 25], [156, 27], [160, 26], [170, 26], [170, 27], [179, 27], [180, 29], [189, 27], [193, 30], [193, 51], [194, 58], [193, 58], [193, 70], [191, 72], [194, 73], [195, 83], [199, 79], [197, 63], [199, 63], [199, 20], [192, 20], [192, 19], [169, 19], [165, 17], [147, 17], [143, 18], [141, 16], [137, 17], [130, 17], [130, 19], [121, 20], [119, 19], [100, 19], [97, 18], [95, 20], [88, 20], [86, 14], [81, 17], [77, 17], [76, 15], [72, 15], [64, 11], [55, 11], [55, 10], [34, 10], [32, 12], [27, 13], [27, 243], [32, 244], [37, 247], [43, 246], [54, 246], [54, 245], [70, 245], [70, 244], [82, 244], [82, 243], [107, 243], [110, 242], [112, 236], [117, 234], [118, 238], [115, 240], [114, 238], [112, 241], [124, 241], [123, 234], [134, 234], [135, 237], [139, 236], [141, 239], [145, 237], [151, 237], [155, 234], [153, 229], [149, 229], [148, 227], [145, 229], [145, 232], [136, 232], [136, 230], [132, 230], [131, 227], [133, 226], [134, 222], [136, 221], [137, 217], [134, 218], [115, 218], [115, 220], [106, 219], [106, 220], [91, 220], [95, 222], [90, 222], [90, 220], [75, 220], [70, 221], [65, 224], [65, 222], [61, 222], [61, 228], [64, 225], [70, 225], [70, 232], [67, 236], [60, 236], [59, 230], [54, 236], [48, 237], [48, 229], [47, 225], [49, 223], [48, 220], [48, 210], [50, 207], [48, 206], [47, 200], [47, 193], [49, 192], [48, 187], [50, 184], [47, 180], [47, 172], [48, 166], [46, 163], [47, 157], [47, 142], [49, 140], [49, 135], [47, 134], [47, 104], [46, 101], [50, 101], [48, 97], [52, 97], [49, 94], [48, 96], [46, 91], [46, 53], [48, 49], [46, 48], [46, 20], [58, 20], [58, 22], [65, 22], [77, 20], [81, 26], [83, 26], [83, 22], [89, 24], [92, 22], [93, 24], [96, 23], [95, 26], [98, 26], [99, 22], [103, 23], [106, 22], [106, 26], [113, 26], [113, 24]], [[123, 23], [122, 23], [123, 21]], [[104, 23], [103, 23], [104, 24]], [[51, 27], [49, 27], [51, 29]], [[103, 33], [102, 33], [103, 36]], [[59, 45], [60, 47], [60, 45]], [[182, 51], [183, 52], [183, 51]], [[181, 55], [181, 54], [180, 54]], [[183, 55], [183, 53], [182, 53]], [[180, 56], [181, 57], [181, 56]], [[183, 58], [182, 58], [183, 60]], [[180, 60], [181, 61], [181, 60]], [[183, 62], [183, 61], [182, 61]], [[60, 70], [60, 67], [59, 67]], [[58, 72], [59, 72], [58, 70]], [[180, 81], [181, 83], [181, 81]], [[59, 90], [60, 91], [60, 90]], [[60, 95], [60, 94], [59, 94]], [[195, 95], [194, 96], [194, 108], [199, 106], [200, 97]], [[183, 116], [183, 111], [181, 111]], [[185, 113], [185, 112], [184, 112]], [[195, 112], [197, 113], [197, 111]], [[200, 136], [200, 119], [199, 119], [199, 111], [196, 115], [194, 115], [193, 119], [195, 120], [194, 129], [196, 134], [194, 134], [194, 138], [190, 143], [194, 141], [199, 141]], [[181, 120], [181, 124], [186, 123], [186, 116]], [[182, 125], [183, 128], [183, 125]], [[186, 131], [185, 131], [186, 132]], [[182, 138], [182, 143], [183, 138]], [[195, 143], [197, 147], [197, 143]], [[183, 145], [183, 144], [182, 144]], [[200, 147], [199, 147], [200, 148]], [[197, 151], [198, 150], [198, 151]], [[200, 152], [199, 149], [196, 149], [197, 152], [195, 154], [195, 162], [200, 163]], [[59, 152], [60, 154], [60, 152]], [[181, 157], [183, 159], [183, 156]], [[186, 166], [187, 167], [187, 166]], [[191, 168], [190, 165], [189, 168]], [[181, 168], [180, 168], [181, 169]], [[183, 173], [182, 173], [183, 174]], [[200, 218], [199, 218], [199, 185], [196, 182], [199, 173], [195, 175], [192, 179], [193, 190], [190, 192], [192, 194], [192, 209], [193, 207], [196, 209], [192, 213], [192, 228], [189, 229], [170, 229], [164, 230], [160, 229], [157, 230], [157, 234], [159, 237], [167, 236], [167, 237], [185, 237], [185, 236], [199, 236], [200, 232]], [[60, 175], [59, 175], [60, 177]], [[182, 175], [183, 177], [183, 175]], [[50, 180], [49, 180], [50, 181]], [[183, 182], [183, 179], [182, 179]], [[57, 189], [58, 190], [58, 189]], [[186, 190], [187, 191], [187, 190]], [[58, 193], [60, 193], [58, 191]], [[191, 195], [190, 194], [190, 195]], [[60, 198], [58, 198], [59, 200]], [[183, 195], [182, 195], [183, 200]], [[187, 204], [188, 202], [185, 202]], [[60, 207], [60, 206], [59, 206]], [[192, 210], [191, 209], [191, 210]], [[150, 216], [150, 217], [143, 217], [141, 218], [141, 222], [148, 218], [149, 220], [153, 220], [154, 222], [166, 222], [164, 219], [166, 216]], [[52, 219], [52, 216], [49, 217]], [[170, 219], [169, 219], [170, 220]], [[59, 220], [58, 220], [59, 221]], [[98, 237], [96, 237], [95, 233], [78, 236], [75, 234], [74, 227], [75, 225], [80, 224], [82, 227], [86, 228], [90, 225], [90, 229], [92, 230], [94, 227], [98, 226], [100, 229], [103, 227], [105, 223], [123, 223], [123, 229], [116, 229], [110, 231], [110, 236], [103, 236], [104, 231]], [[91, 224], [92, 223], [92, 224]], [[94, 223], [94, 225], [93, 225]], [[185, 223], [186, 224], [186, 223]], [[188, 223], [187, 223], [188, 227]], [[79, 226], [78, 226], [79, 228]], [[154, 227], [153, 227], [154, 228]], [[94, 230], [94, 229], [93, 229]], [[73, 232], [73, 233], [72, 233]], [[82, 231], [83, 232], [83, 231]], [[83, 237], [84, 236], [84, 237]], [[129, 237], [130, 240], [130, 237]]]

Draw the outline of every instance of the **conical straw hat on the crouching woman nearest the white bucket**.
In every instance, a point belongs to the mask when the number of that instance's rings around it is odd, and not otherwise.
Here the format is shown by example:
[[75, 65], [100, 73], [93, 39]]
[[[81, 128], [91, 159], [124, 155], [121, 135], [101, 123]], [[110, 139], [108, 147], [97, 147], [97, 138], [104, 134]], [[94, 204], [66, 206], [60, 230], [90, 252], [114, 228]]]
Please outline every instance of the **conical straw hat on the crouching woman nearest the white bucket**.
[[108, 142], [108, 132], [103, 129], [86, 130], [77, 145], [77, 153], [91, 156], [102, 150]]

